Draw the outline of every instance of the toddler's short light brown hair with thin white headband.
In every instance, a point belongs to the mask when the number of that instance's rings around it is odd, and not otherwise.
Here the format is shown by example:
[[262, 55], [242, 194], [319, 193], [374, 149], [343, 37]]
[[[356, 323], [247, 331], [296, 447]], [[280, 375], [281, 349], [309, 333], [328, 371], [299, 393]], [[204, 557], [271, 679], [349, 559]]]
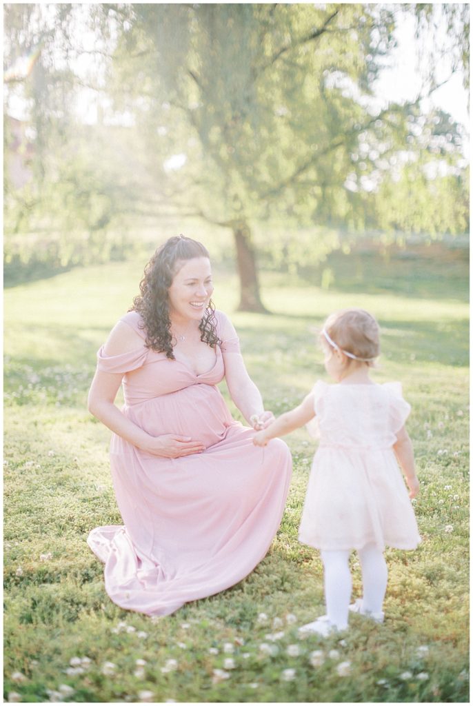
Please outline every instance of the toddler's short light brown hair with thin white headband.
[[[372, 367], [380, 354], [379, 326], [376, 318], [364, 309], [342, 309], [330, 314], [324, 324], [324, 330], [330, 339], [342, 350], [355, 359]], [[327, 338], [321, 334], [323, 345], [330, 346]]]

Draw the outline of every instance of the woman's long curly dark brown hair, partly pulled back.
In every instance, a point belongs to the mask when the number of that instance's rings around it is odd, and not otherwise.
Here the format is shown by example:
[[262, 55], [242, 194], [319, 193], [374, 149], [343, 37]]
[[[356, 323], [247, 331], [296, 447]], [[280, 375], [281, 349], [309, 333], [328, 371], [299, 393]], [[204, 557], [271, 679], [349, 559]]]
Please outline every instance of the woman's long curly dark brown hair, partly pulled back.
[[[167, 290], [172, 285], [176, 274], [177, 261], [208, 257], [208, 251], [203, 244], [184, 235], [169, 238], [152, 256], [140, 282], [141, 294], [133, 299], [133, 306], [128, 309], [128, 311], [138, 311], [143, 319], [146, 347], [158, 353], [164, 352], [168, 358], [175, 360]], [[212, 299], [205, 309], [199, 330], [201, 341], [208, 343], [212, 348], [220, 345]]]

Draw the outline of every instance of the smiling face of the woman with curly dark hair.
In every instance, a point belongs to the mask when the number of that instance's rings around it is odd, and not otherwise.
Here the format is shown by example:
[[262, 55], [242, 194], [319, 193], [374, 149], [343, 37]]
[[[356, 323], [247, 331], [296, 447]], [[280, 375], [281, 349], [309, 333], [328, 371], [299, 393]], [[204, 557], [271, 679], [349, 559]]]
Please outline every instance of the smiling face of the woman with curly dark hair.
[[172, 318], [200, 321], [212, 297], [212, 269], [205, 257], [178, 261], [172, 285], [167, 290]]

